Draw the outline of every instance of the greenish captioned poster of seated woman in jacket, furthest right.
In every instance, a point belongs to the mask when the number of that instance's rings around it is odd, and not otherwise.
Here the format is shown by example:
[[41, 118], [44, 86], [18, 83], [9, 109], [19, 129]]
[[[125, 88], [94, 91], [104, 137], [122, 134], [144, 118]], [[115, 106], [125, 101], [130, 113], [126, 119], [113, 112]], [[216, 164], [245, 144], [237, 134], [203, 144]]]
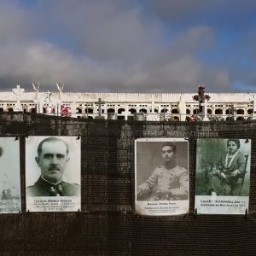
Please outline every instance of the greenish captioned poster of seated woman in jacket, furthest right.
[[[198, 139], [195, 206], [205, 208], [206, 213], [211, 208], [212, 213], [244, 213], [250, 190], [250, 160], [249, 139]], [[219, 201], [224, 203], [220, 205]]]

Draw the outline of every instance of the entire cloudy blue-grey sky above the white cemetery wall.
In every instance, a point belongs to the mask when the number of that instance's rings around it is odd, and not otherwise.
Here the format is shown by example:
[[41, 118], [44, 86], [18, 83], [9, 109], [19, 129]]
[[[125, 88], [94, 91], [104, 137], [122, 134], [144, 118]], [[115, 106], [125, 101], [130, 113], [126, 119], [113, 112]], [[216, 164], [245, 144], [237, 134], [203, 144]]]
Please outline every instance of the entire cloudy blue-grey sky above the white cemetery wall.
[[0, 0], [0, 90], [255, 91], [255, 0]]

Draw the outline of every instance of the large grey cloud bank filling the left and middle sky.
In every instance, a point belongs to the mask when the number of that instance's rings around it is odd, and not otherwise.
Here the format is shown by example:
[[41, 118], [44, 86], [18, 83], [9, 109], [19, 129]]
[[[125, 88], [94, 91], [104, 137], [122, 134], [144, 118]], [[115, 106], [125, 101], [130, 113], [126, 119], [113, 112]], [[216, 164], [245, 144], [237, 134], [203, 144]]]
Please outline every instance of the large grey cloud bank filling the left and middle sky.
[[136, 3], [0, 3], [0, 17], [3, 88], [41, 82], [46, 90], [57, 82], [75, 91], [192, 91], [202, 79], [220, 89], [229, 84], [227, 72], [197, 58], [214, 44], [212, 27], [189, 27], [168, 41], [163, 23]]

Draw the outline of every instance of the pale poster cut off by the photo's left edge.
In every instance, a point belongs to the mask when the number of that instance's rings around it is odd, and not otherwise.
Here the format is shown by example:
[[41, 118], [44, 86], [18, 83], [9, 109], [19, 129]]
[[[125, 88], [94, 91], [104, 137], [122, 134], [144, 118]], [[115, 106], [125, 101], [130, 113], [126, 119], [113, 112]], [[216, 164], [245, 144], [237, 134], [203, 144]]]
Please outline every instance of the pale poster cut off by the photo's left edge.
[[20, 140], [0, 137], [0, 213], [20, 212]]

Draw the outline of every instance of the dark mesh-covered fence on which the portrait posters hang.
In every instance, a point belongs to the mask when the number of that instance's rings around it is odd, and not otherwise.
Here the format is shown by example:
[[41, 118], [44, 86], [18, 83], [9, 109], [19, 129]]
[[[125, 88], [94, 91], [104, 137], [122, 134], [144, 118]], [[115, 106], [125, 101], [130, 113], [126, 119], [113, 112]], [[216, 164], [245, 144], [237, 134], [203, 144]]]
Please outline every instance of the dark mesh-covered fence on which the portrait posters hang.
[[[256, 121], [125, 122], [0, 113], [0, 136], [20, 137], [23, 212], [0, 214], [0, 255], [254, 255]], [[25, 212], [25, 137], [78, 136], [82, 212]], [[134, 213], [134, 139], [189, 139], [189, 214]], [[195, 215], [196, 138], [252, 139], [247, 216]]]

